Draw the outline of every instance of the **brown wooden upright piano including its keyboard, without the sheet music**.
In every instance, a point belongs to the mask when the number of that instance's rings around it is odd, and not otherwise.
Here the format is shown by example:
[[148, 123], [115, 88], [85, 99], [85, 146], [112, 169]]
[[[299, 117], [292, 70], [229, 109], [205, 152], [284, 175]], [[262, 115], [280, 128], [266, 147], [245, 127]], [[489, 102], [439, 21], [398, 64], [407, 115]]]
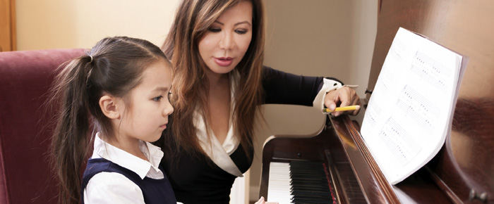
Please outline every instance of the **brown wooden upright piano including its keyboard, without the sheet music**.
[[444, 146], [427, 165], [390, 185], [359, 122], [327, 117], [314, 136], [267, 139], [260, 196], [280, 203], [494, 203], [494, 1], [382, 0], [377, 6], [364, 101], [399, 27], [469, 56]]

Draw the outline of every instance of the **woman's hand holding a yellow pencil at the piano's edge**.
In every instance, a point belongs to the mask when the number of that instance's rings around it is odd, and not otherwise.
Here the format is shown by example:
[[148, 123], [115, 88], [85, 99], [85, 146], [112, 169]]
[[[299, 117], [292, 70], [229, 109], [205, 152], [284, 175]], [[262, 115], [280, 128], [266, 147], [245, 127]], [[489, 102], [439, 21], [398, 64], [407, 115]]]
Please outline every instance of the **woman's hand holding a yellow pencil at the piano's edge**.
[[[350, 87], [342, 87], [340, 89], [327, 92], [324, 98], [324, 105], [327, 108], [330, 108], [330, 110], [335, 110], [337, 104], [339, 104], [339, 107], [361, 105], [359, 95], [357, 95], [356, 91]], [[335, 116], [342, 115], [343, 113], [357, 115], [359, 113], [359, 110], [360, 109], [347, 110], [344, 112], [338, 111], [331, 114]]]

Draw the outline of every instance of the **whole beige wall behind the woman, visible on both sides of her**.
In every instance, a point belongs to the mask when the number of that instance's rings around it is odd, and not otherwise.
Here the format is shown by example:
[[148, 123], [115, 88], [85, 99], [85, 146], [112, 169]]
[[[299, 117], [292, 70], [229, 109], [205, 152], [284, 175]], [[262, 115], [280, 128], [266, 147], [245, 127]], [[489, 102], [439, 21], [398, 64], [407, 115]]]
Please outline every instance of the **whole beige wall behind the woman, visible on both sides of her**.
[[[18, 50], [90, 48], [126, 35], [160, 46], [179, 0], [16, 1]], [[301, 75], [337, 77], [365, 95], [377, 29], [378, 0], [267, 0], [265, 65]], [[258, 198], [262, 144], [272, 134], [311, 134], [323, 124], [312, 108], [265, 106], [251, 167]], [[363, 113], [359, 114], [362, 116]]]

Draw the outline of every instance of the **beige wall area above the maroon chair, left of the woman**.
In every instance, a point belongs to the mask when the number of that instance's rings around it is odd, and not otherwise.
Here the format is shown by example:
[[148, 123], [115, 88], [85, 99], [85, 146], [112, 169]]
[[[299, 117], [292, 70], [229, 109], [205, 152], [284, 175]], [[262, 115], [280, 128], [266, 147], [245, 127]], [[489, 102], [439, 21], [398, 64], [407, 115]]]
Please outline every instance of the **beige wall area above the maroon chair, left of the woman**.
[[91, 48], [126, 35], [161, 46], [179, 0], [17, 0], [17, 49]]

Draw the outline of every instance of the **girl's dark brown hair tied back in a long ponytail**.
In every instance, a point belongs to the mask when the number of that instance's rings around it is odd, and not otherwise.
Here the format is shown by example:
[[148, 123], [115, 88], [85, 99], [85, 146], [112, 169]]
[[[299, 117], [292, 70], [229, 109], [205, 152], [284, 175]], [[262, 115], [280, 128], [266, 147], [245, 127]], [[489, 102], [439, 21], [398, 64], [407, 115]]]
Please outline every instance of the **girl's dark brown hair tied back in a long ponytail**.
[[59, 203], [80, 203], [80, 172], [92, 149], [91, 127], [104, 136], [114, 136], [114, 127], [99, 106], [102, 94], [123, 98], [129, 106], [128, 92], [140, 83], [143, 70], [157, 60], [168, 62], [154, 44], [111, 37], [98, 42], [88, 56], [61, 65], [47, 101], [57, 113], [50, 153], [59, 181]]

